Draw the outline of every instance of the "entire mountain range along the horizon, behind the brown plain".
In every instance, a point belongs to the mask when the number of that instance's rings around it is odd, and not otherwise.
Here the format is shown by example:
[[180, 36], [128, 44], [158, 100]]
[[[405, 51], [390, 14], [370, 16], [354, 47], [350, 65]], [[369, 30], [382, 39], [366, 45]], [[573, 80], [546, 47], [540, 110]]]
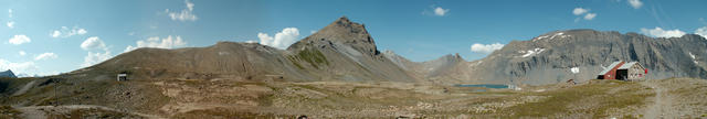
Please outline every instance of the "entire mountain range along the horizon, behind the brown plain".
[[[257, 43], [219, 42], [207, 47], [138, 48], [81, 73], [130, 72], [134, 78], [428, 82], [435, 84], [553, 84], [592, 79], [602, 65], [640, 62], [647, 78], [707, 78], [707, 40], [687, 34], [654, 39], [636, 33], [555, 31], [513, 41], [487, 57], [458, 54], [411, 62], [380, 52], [363, 24], [339, 18], [318, 32], [277, 50]], [[580, 73], [569, 71], [578, 67]]]

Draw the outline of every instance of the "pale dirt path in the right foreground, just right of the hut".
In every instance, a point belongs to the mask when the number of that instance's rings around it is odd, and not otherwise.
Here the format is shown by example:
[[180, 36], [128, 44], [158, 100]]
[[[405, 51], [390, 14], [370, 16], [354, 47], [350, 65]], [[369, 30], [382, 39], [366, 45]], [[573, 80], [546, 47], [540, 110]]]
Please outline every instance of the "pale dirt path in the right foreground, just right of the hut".
[[655, 90], [655, 98], [652, 105], [648, 105], [645, 110], [645, 118], [647, 119], [657, 119], [657, 118], [666, 118], [674, 119], [678, 118], [677, 109], [674, 107], [674, 96], [672, 96], [668, 91], [668, 87], [664, 87], [664, 85], [659, 85], [658, 80], [646, 80], [641, 83], [644, 86], [648, 86]]

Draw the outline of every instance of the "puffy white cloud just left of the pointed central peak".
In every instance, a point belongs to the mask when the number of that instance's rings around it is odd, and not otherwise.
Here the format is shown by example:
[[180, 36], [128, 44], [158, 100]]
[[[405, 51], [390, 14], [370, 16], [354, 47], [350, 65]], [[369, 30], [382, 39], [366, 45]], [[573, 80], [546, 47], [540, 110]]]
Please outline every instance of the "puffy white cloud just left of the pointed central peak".
[[274, 37], [267, 35], [267, 33], [257, 33], [257, 37], [263, 45], [284, 50], [297, 41], [299, 30], [297, 30], [297, 28], [285, 28], [282, 32], [275, 33]]

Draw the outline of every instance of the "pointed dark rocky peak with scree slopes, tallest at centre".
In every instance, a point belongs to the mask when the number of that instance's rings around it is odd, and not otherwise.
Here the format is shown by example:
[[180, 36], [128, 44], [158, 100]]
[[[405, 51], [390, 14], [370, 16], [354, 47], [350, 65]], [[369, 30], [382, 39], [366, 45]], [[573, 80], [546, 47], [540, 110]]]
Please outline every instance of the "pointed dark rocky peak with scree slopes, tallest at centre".
[[363, 24], [346, 17], [291, 45], [287, 51], [294, 55], [289, 60], [306, 71], [304, 75], [319, 80], [415, 80], [378, 51]]

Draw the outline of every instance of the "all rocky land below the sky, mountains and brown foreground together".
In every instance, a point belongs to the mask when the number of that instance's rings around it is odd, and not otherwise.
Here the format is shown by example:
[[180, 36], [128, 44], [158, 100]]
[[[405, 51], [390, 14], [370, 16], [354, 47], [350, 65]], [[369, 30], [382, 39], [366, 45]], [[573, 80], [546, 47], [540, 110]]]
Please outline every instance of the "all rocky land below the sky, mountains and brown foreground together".
[[[0, 77], [0, 118], [704, 118], [706, 55], [707, 40], [693, 34], [568, 30], [478, 61], [411, 62], [340, 18], [287, 50], [138, 48], [71, 73]], [[641, 62], [648, 79], [593, 79], [618, 60]]]

